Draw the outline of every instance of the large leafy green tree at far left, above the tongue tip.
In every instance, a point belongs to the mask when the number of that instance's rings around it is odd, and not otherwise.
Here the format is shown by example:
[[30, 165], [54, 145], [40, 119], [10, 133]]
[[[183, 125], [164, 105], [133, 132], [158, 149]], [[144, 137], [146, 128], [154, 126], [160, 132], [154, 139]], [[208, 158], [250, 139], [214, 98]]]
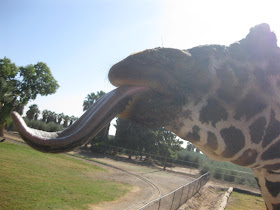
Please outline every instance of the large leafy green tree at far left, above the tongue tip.
[[53, 94], [59, 87], [45, 63], [18, 68], [6, 57], [0, 59], [0, 81], [5, 87], [0, 91], [0, 136], [4, 136], [4, 127], [11, 122], [12, 110], [22, 112], [29, 100]]

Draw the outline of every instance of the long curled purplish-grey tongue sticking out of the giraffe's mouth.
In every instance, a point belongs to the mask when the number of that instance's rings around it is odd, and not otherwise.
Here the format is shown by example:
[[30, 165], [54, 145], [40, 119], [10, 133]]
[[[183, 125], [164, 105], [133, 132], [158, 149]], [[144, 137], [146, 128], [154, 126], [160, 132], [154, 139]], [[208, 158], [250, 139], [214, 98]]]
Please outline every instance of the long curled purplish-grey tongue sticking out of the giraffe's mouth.
[[71, 151], [90, 141], [118, 113], [123, 111], [130, 96], [147, 91], [147, 87], [119, 87], [93, 104], [73, 125], [60, 132], [44, 132], [29, 128], [17, 112], [11, 116], [21, 137], [34, 149], [60, 153]]

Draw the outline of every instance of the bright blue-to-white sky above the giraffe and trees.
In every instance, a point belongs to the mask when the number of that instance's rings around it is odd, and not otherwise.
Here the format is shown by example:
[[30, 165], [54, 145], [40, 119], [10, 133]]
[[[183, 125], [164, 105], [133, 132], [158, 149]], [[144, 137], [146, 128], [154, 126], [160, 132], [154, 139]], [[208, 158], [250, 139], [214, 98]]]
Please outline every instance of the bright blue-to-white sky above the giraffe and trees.
[[44, 62], [60, 85], [25, 111], [79, 117], [88, 94], [114, 89], [108, 71], [129, 54], [229, 45], [260, 23], [280, 37], [279, 9], [279, 0], [0, 0], [0, 58]]

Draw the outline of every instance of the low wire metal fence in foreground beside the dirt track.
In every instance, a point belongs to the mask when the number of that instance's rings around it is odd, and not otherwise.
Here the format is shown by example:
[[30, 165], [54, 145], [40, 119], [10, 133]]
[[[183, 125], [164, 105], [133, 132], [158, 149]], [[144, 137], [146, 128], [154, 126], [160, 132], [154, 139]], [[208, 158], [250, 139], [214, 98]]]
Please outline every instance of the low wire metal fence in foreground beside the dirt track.
[[194, 196], [209, 180], [210, 173], [206, 173], [192, 182], [179, 187], [160, 198], [157, 198], [139, 209], [178, 209], [183, 203]]

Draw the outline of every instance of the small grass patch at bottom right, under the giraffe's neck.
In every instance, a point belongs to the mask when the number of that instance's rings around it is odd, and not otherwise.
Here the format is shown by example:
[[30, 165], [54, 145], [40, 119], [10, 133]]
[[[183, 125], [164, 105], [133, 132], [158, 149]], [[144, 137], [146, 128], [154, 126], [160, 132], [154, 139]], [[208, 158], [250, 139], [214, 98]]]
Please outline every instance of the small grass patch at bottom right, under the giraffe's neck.
[[263, 210], [266, 209], [263, 198], [243, 193], [232, 192], [226, 210]]

